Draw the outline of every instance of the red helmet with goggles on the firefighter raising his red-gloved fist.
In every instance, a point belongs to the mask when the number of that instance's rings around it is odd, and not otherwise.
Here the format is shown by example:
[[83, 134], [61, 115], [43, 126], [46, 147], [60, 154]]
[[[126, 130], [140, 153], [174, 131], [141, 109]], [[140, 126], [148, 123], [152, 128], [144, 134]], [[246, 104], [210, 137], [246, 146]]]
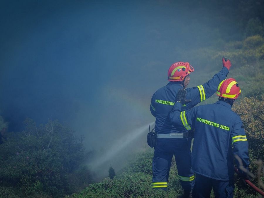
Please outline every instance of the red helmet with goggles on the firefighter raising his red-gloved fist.
[[185, 76], [194, 71], [194, 68], [188, 62], [177, 62], [172, 64], [168, 70], [169, 81], [182, 81]]

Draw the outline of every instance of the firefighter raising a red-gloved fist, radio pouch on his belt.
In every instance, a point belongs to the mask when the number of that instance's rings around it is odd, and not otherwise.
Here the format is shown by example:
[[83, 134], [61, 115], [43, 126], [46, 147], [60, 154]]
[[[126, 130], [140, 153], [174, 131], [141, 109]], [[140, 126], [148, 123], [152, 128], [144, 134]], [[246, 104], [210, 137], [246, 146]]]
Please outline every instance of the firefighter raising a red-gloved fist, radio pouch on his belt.
[[187, 103], [182, 109], [187, 110], [206, 100], [215, 93], [219, 83], [226, 78], [231, 62], [223, 57], [223, 68], [207, 83], [197, 87], [187, 88], [189, 74], [194, 68], [188, 62], [172, 64], [168, 70], [169, 83], [158, 89], [152, 96], [150, 111], [155, 116], [156, 145], [153, 157], [152, 187], [167, 189], [167, 182], [173, 155], [175, 156], [180, 183], [184, 189], [183, 197], [192, 197], [194, 174], [191, 170], [191, 140], [192, 132], [182, 132], [172, 125], [169, 113], [172, 110], [178, 90], [186, 90]]

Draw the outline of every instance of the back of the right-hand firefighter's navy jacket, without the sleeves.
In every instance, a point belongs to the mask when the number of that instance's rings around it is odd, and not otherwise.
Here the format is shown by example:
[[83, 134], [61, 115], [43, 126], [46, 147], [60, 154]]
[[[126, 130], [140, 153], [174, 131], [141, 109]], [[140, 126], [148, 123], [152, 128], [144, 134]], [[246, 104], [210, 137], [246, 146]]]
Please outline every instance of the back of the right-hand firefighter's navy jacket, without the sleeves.
[[[212, 179], [229, 180], [233, 175], [231, 130], [237, 119], [231, 105], [218, 101], [198, 107], [193, 126], [194, 172]], [[198, 157], [199, 156], [199, 157]]]

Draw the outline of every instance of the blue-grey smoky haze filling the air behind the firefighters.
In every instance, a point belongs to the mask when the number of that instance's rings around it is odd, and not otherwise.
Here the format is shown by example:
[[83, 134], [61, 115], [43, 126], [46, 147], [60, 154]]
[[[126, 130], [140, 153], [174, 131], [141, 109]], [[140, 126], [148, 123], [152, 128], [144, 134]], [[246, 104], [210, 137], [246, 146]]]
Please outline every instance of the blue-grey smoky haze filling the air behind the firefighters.
[[1, 1], [0, 115], [9, 130], [23, 130], [26, 117], [58, 119], [98, 149], [152, 123], [150, 99], [170, 65], [193, 61], [180, 52], [209, 46], [227, 23], [220, 2], [188, 2]]

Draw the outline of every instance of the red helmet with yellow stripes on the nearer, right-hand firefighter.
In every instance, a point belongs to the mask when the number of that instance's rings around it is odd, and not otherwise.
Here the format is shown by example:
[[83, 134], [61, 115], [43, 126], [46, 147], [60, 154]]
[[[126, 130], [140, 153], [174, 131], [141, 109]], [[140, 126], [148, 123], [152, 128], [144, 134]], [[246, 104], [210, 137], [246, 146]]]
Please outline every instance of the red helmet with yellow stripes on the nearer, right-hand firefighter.
[[241, 90], [234, 78], [228, 78], [223, 80], [216, 91], [216, 95], [223, 98], [236, 99], [241, 93]]

